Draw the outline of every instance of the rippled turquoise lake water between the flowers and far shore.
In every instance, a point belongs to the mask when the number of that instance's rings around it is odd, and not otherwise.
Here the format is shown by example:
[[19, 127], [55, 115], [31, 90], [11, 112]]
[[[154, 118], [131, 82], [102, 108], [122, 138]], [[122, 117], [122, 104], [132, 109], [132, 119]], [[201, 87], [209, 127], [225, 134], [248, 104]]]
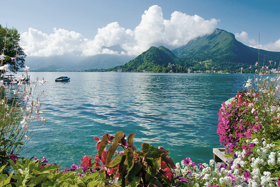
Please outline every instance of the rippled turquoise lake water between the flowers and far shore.
[[[48, 122], [21, 151], [63, 167], [97, 153], [94, 137], [118, 131], [170, 151], [174, 162], [213, 159], [222, 102], [242, 90], [240, 74], [29, 72], [48, 80], [41, 110]], [[70, 82], [55, 82], [60, 76]], [[37, 88], [36, 88], [37, 89]], [[109, 147], [108, 147], [109, 148]]]

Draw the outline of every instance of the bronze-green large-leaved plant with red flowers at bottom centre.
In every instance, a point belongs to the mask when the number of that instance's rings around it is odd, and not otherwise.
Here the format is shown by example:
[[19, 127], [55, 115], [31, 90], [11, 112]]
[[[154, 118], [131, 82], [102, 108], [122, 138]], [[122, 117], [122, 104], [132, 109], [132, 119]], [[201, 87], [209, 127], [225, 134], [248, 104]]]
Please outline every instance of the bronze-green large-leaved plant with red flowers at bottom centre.
[[[121, 186], [163, 186], [171, 180], [171, 170], [175, 164], [168, 156], [168, 151], [162, 147], [156, 148], [148, 143], [143, 143], [141, 151], [137, 151], [133, 143], [134, 134], [126, 136], [117, 132], [115, 137], [105, 134], [102, 139], [95, 137], [98, 149], [98, 158], [109, 170], [115, 169], [115, 175], [119, 175]], [[108, 151], [106, 146], [110, 145]], [[118, 147], [124, 149], [123, 153], [112, 159]], [[96, 159], [95, 159], [96, 160]], [[168, 178], [168, 174], [170, 177]]]

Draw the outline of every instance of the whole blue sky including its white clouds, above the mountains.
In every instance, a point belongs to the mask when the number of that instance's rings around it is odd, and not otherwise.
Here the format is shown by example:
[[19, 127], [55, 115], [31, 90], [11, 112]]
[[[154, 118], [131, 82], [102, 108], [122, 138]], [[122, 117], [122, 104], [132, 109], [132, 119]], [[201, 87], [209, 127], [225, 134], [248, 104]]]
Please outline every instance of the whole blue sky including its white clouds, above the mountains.
[[[149, 45], [176, 48], [197, 36], [209, 34], [213, 28], [231, 32], [237, 40], [255, 47], [260, 33], [261, 48], [274, 51], [280, 48], [279, 0], [11, 0], [1, 2], [1, 7], [0, 24], [7, 23], [9, 28], [15, 27], [23, 33], [21, 45], [31, 56], [57, 55], [56, 52], [58, 55], [113, 53], [102, 51], [100, 46], [116, 44], [129, 51], [126, 55], [137, 55]], [[143, 18], [145, 11], [148, 13]], [[176, 11], [175, 22], [172, 22], [171, 14]], [[180, 19], [185, 20], [182, 27]], [[99, 28], [103, 29], [98, 31]]]

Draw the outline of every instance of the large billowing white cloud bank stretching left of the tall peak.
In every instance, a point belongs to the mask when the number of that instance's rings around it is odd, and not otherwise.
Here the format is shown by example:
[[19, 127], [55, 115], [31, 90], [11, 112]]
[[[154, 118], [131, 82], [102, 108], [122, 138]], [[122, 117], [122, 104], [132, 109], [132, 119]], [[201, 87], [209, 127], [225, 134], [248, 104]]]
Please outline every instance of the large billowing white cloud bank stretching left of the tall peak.
[[79, 52], [81, 55], [119, 54], [102, 49], [102, 46], [119, 44], [127, 53], [139, 55], [151, 46], [165, 46], [170, 50], [187, 44], [190, 40], [211, 34], [217, 27], [217, 19], [204, 20], [198, 15], [189, 16], [173, 12], [170, 20], [163, 18], [161, 7], [154, 5], [144, 12], [142, 20], [132, 31], [119, 26], [118, 22], [99, 28], [93, 40], [80, 33], [54, 28], [47, 35], [33, 28], [21, 35], [21, 46], [30, 56], [63, 55]]

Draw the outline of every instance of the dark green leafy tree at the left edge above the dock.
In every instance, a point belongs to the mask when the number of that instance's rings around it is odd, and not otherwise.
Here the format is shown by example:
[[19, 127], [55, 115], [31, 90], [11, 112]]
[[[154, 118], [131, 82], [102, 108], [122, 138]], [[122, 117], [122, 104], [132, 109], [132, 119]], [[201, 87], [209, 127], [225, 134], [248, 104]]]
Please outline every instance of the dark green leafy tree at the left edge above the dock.
[[[19, 44], [20, 36], [14, 27], [8, 29], [0, 24], [0, 54], [6, 55], [2, 65], [8, 64], [9, 69], [15, 72], [24, 67], [26, 57]], [[11, 57], [16, 57], [16, 60], [12, 60]]]

